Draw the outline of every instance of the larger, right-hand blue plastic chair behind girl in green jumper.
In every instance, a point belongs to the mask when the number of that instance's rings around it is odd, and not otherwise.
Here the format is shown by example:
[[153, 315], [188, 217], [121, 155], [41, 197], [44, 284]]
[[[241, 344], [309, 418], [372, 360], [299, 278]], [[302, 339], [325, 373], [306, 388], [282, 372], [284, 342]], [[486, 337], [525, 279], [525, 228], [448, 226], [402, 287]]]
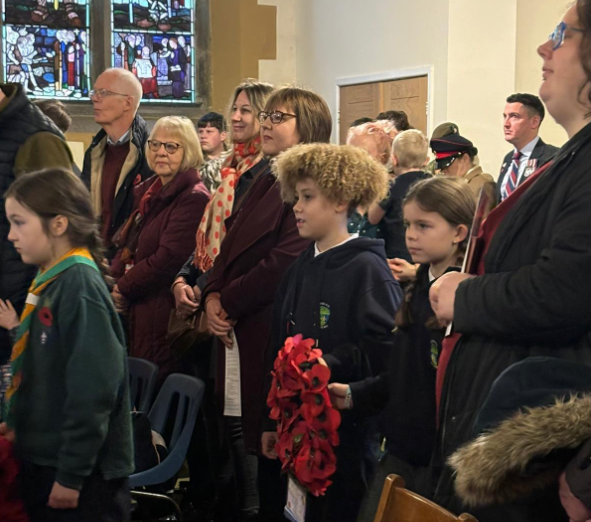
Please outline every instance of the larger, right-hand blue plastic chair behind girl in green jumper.
[[[176, 476], [187, 456], [204, 391], [204, 382], [189, 375], [173, 373], [164, 381], [148, 418], [152, 429], [160, 434], [164, 433], [169, 418], [172, 421], [172, 434], [170, 440], [166, 441], [168, 456], [157, 466], [131, 475], [129, 485], [132, 488], [164, 484]], [[175, 405], [176, 411], [173, 408]], [[135, 498], [148, 497], [171, 503], [177, 513], [177, 520], [181, 520], [181, 510], [170, 497], [148, 491], [131, 493]]]

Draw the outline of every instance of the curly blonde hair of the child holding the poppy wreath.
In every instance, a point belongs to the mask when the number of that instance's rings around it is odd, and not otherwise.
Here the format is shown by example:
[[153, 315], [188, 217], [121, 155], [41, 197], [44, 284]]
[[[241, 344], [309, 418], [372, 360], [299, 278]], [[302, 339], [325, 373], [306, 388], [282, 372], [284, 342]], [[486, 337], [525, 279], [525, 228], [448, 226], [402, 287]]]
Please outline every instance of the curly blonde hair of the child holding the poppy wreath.
[[388, 171], [367, 152], [350, 145], [310, 143], [281, 153], [273, 170], [285, 202], [295, 200], [296, 183], [312, 179], [331, 201], [349, 209], [368, 207], [388, 193]]

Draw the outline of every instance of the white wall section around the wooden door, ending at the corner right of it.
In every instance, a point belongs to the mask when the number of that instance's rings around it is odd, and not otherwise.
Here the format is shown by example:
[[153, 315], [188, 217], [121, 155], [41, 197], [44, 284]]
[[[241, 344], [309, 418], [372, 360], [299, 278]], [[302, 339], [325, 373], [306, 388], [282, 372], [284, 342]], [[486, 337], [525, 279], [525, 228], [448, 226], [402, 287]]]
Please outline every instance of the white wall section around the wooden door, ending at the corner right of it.
[[448, 0], [297, 0], [297, 81], [328, 102], [334, 141], [339, 78], [432, 66], [433, 118], [445, 119], [447, 18]]

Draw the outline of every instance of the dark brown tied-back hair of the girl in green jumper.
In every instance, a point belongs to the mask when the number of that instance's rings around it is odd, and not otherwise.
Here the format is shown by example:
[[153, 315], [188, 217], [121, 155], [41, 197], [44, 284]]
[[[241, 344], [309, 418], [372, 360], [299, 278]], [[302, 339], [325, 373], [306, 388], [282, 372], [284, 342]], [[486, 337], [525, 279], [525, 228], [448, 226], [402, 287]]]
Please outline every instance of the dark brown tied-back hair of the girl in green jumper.
[[14, 198], [37, 214], [46, 234], [52, 218], [58, 215], [68, 218], [66, 234], [72, 246], [87, 248], [107, 285], [112, 284], [90, 194], [72, 172], [56, 168], [21, 174], [4, 198]]

